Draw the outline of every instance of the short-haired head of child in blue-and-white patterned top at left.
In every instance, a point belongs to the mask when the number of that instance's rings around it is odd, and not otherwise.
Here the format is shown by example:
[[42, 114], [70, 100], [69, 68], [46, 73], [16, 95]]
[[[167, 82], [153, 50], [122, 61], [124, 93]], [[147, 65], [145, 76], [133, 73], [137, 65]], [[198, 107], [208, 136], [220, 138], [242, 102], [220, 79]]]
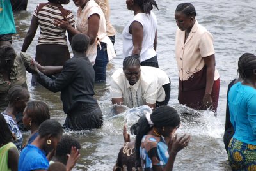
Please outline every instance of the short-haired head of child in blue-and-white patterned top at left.
[[30, 94], [28, 89], [25, 87], [15, 85], [9, 89], [7, 98], [9, 103], [8, 105], [15, 107], [17, 112], [23, 112], [29, 101]]

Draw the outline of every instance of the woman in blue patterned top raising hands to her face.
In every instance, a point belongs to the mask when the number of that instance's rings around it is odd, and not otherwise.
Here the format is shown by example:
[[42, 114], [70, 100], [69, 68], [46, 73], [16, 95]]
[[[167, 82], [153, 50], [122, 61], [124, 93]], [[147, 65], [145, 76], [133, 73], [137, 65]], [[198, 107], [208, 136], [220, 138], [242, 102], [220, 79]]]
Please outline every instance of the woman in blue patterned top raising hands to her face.
[[[143, 119], [143, 122], [140, 120]], [[190, 136], [177, 137], [180, 126], [177, 111], [169, 106], [157, 108], [141, 117], [136, 129], [136, 162], [143, 170], [172, 170], [177, 153], [188, 146]]]

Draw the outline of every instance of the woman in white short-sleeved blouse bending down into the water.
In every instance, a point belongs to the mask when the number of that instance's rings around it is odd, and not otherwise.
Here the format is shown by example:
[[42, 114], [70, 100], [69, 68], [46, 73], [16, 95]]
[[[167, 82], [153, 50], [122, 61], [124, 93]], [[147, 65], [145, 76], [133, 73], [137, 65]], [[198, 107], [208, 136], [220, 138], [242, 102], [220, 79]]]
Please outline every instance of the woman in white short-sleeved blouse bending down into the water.
[[163, 70], [140, 66], [138, 55], [126, 57], [123, 68], [112, 75], [112, 103], [129, 108], [148, 105], [157, 108], [170, 100], [170, 79]]

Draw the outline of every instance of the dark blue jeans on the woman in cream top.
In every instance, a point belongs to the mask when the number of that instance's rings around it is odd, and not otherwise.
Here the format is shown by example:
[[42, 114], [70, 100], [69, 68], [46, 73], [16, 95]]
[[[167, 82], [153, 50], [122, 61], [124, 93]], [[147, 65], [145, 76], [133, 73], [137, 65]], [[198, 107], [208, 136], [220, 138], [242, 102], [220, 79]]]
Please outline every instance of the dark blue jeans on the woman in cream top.
[[93, 69], [95, 71], [95, 82], [106, 81], [107, 77], [107, 64], [108, 64], [108, 52], [107, 44], [100, 42], [101, 50], [98, 45], [97, 56]]

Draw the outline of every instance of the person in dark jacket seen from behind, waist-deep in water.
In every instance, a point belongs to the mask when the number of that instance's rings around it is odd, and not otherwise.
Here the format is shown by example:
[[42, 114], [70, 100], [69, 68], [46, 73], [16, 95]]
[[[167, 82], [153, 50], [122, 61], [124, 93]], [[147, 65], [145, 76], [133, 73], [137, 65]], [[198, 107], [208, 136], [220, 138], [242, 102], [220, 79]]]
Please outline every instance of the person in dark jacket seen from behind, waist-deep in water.
[[93, 98], [94, 70], [88, 57], [85, 56], [90, 38], [76, 34], [72, 39], [74, 57], [69, 59], [63, 71], [56, 79], [51, 79], [37, 71], [38, 82], [53, 92], [61, 91], [63, 110], [67, 114], [63, 125], [72, 130], [100, 128], [102, 112]]

